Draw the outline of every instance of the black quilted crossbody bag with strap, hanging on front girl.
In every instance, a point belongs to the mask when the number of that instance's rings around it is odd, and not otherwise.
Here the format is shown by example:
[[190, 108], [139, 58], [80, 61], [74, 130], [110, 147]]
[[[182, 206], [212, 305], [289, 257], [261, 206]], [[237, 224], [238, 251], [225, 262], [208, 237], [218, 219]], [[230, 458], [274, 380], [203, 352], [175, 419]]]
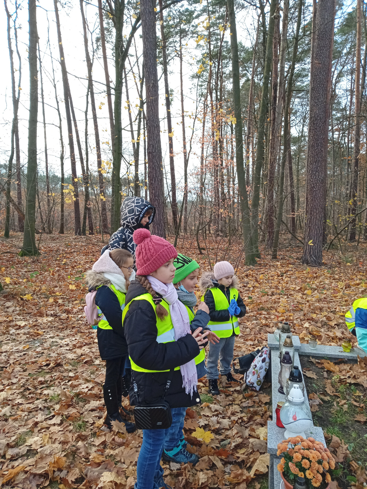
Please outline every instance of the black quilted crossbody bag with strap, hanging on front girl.
[[[159, 404], [137, 404], [134, 407], [135, 425], [138, 429], [167, 429], [172, 424], [172, 413], [165, 396], [171, 385], [174, 369], [168, 374], [167, 383], [164, 387], [162, 402]], [[139, 399], [138, 385], [134, 379], [133, 371], [131, 372], [133, 381], [134, 394]]]

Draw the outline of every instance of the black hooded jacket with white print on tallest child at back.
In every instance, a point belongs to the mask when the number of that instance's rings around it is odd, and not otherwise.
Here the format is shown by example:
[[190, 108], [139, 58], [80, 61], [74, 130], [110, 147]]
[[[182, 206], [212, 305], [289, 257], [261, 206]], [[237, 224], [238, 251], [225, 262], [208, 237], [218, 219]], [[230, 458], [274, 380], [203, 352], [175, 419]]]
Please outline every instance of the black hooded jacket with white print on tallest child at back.
[[[151, 209], [152, 214], [145, 226], [140, 224], [145, 213]], [[156, 208], [142, 197], [126, 197], [121, 204], [121, 227], [111, 236], [109, 243], [102, 248], [101, 254], [106, 249], [124, 248], [130, 251], [135, 258], [135, 249], [137, 245], [133, 240], [133, 233], [139, 227], [149, 229], [156, 214]]]

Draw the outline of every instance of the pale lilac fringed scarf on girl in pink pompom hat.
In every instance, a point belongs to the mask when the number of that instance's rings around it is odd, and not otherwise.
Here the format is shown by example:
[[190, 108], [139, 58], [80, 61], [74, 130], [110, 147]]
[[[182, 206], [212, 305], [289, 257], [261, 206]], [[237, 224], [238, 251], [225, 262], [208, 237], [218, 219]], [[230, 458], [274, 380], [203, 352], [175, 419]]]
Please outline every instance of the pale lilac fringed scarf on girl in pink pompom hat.
[[[190, 320], [187, 310], [184, 304], [179, 301], [177, 291], [173, 284], [163, 284], [151, 275], [148, 275], [147, 278], [153, 289], [161, 294], [163, 299], [169, 304], [169, 312], [175, 330], [175, 340], [182, 338], [186, 334], [190, 334]], [[190, 393], [192, 397], [194, 387], [198, 383], [195, 360], [192, 359], [184, 365], [180, 365], [180, 371], [183, 378], [182, 386], [185, 388], [186, 394]]]

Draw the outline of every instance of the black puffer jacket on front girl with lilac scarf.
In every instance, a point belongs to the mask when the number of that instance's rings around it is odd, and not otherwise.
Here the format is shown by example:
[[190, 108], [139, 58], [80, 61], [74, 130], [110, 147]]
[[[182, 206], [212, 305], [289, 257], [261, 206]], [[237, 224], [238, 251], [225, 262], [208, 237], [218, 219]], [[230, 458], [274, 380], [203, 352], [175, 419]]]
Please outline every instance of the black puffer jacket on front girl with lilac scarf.
[[[138, 280], [133, 280], [126, 294], [125, 304], [146, 293]], [[129, 355], [141, 368], [147, 370], [168, 370], [187, 363], [199, 355], [200, 348], [191, 334], [169, 343], [157, 343], [157, 321], [152, 305], [145, 300], [133, 301], [124, 319], [124, 334]], [[168, 372], [133, 371], [138, 384], [138, 399], [130, 390], [130, 404], [155, 404], [161, 402]], [[183, 388], [180, 370], [175, 370], [170, 388], [165, 397], [170, 407], [189, 407], [200, 403], [200, 396], [194, 391], [193, 397]]]

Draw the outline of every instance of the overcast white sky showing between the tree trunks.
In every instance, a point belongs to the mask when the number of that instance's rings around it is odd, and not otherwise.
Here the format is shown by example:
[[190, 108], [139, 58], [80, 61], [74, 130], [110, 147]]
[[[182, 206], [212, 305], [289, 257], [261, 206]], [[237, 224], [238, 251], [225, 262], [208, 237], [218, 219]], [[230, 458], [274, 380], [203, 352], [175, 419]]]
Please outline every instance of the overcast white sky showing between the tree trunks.
[[[12, 0], [7, 0], [8, 8], [10, 12], [14, 11], [14, 5]], [[96, 3], [96, 2], [95, 2]], [[54, 171], [55, 173], [60, 172], [60, 143], [59, 143], [59, 129], [56, 125], [58, 125], [58, 116], [57, 112], [54, 109], [55, 107], [55, 97], [54, 91], [51, 83], [48, 80], [47, 73], [51, 74], [51, 62], [50, 62], [50, 53], [49, 47], [47, 45], [47, 16], [49, 21], [49, 32], [50, 32], [50, 46], [51, 51], [54, 57], [54, 67], [56, 71], [56, 81], [57, 81], [57, 89], [58, 89], [58, 97], [59, 100], [63, 101], [63, 88], [61, 83], [61, 71], [59, 67], [59, 52], [58, 52], [58, 41], [57, 41], [57, 32], [56, 32], [56, 23], [55, 23], [55, 14], [53, 10], [53, 1], [52, 0], [40, 0], [37, 3], [37, 24], [38, 24], [38, 35], [40, 39], [40, 49], [41, 49], [41, 57], [43, 63], [43, 82], [44, 82], [44, 92], [45, 92], [45, 102], [46, 104], [46, 123], [47, 123], [47, 146], [48, 146], [48, 162], [50, 171]], [[99, 22], [97, 9], [92, 5], [85, 5], [87, 11], [87, 20], [89, 22], [90, 29], [93, 30], [95, 28], [94, 37], [99, 35]], [[48, 12], [46, 12], [46, 10]], [[69, 83], [71, 94], [73, 98], [74, 108], [76, 112], [76, 117], [79, 121], [78, 129], [80, 132], [80, 137], [84, 141], [84, 111], [86, 104], [86, 92], [87, 92], [87, 81], [85, 78], [87, 77], [87, 67], [85, 63], [85, 51], [84, 51], [84, 42], [83, 42], [83, 30], [82, 30], [82, 20], [80, 14], [79, 1], [71, 0], [69, 6], [63, 8], [59, 5], [59, 14], [60, 14], [60, 22], [61, 22], [61, 31], [62, 31], [62, 41], [65, 53], [65, 60], [67, 69], [69, 71]], [[251, 28], [252, 18], [247, 14], [246, 18], [244, 17], [245, 13], [242, 12], [238, 15], [238, 28], [240, 33], [242, 33], [242, 41], [246, 42], [246, 44], [251, 44], [252, 40], [247, 39], [246, 25]], [[26, 153], [27, 153], [27, 136], [28, 136], [28, 108], [29, 108], [29, 68], [28, 68], [28, 59], [27, 59], [27, 46], [28, 46], [28, 5], [27, 1], [23, 0], [21, 2], [21, 9], [18, 13], [18, 26], [21, 27], [18, 30], [18, 40], [19, 40], [19, 50], [22, 57], [22, 82], [21, 82], [21, 98], [20, 98], [20, 107], [19, 107], [19, 133], [20, 133], [20, 145], [21, 145], [21, 153], [22, 153], [22, 163], [26, 161]], [[159, 30], [159, 26], [158, 30]], [[252, 30], [252, 29], [251, 29]], [[252, 30], [252, 32], [254, 32]], [[126, 33], [126, 31], [125, 31]], [[140, 30], [136, 34], [137, 42], [139, 43], [138, 34]], [[226, 33], [226, 36], [229, 38], [229, 32]], [[13, 37], [13, 36], [12, 36]], [[7, 164], [8, 155], [10, 152], [10, 131], [11, 131], [11, 120], [12, 120], [12, 101], [11, 101], [11, 79], [10, 79], [10, 67], [9, 67], [9, 53], [7, 47], [7, 32], [6, 32], [6, 14], [4, 7], [0, 10], [0, 66], [2, 68], [2, 76], [0, 79], [0, 162], [2, 164]], [[189, 75], [193, 72], [193, 70], [197, 69], [196, 65], [192, 61], [192, 56], [195, 56], [195, 46], [194, 42], [189, 43], [187, 47], [184, 47], [184, 109], [185, 111], [195, 111], [195, 100], [196, 93], [195, 87], [192, 85], [190, 81]], [[13, 40], [13, 49], [15, 49], [14, 40]], [[90, 45], [91, 51], [91, 45]], [[138, 51], [141, 53], [141, 46], [138, 46]], [[134, 52], [134, 51], [132, 51]], [[197, 52], [196, 52], [197, 53]], [[111, 54], [111, 53], [110, 53]], [[192, 66], [190, 65], [190, 61], [192, 62]], [[132, 60], [133, 62], [133, 60]], [[14, 53], [14, 65], [18, 67], [18, 59], [16, 53]], [[129, 65], [127, 65], [129, 67]], [[109, 63], [110, 75], [112, 79], [114, 79], [114, 66], [112, 60]], [[182, 156], [182, 126], [181, 126], [181, 101], [179, 95], [180, 89], [180, 78], [179, 78], [179, 63], [178, 60], [173, 60], [170, 62], [169, 68], [172, 70], [172, 74], [169, 76], [169, 85], [175, 92], [175, 98], [173, 102], [173, 106], [171, 109], [172, 118], [173, 118], [173, 126], [175, 128], [175, 136], [174, 136], [174, 151], [175, 157], [175, 165], [176, 165], [176, 173], [177, 173], [177, 181], [180, 181], [183, 173], [183, 156]], [[75, 76], [73, 76], [75, 75]], [[159, 67], [159, 76], [160, 67]], [[16, 73], [16, 83], [18, 82], [18, 72]], [[79, 78], [77, 78], [79, 77]], [[84, 78], [84, 79], [83, 79]], [[94, 66], [93, 66], [93, 79], [95, 81], [100, 81], [103, 84], [105, 83], [105, 77], [102, 67], [102, 60], [99, 59], [99, 54], [95, 58]], [[129, 96], [130, 101], [133, 107], [135, 104], [139, 102], [137, 90], [135, 88], [135, 84], [133, 78], [129, 77]], [[110, 126], [108, 119], [108, 108], [107, 108], [107, 99], [105, 98], [105, 93], [101, 93], [104, 90], [104, 86], [98, 83], [94, 83], [95, 90], [95, 101], [98, 106], [101, 102], [104, 102], [105, 105], [102, 105], [101, 110], [97, 108], [97, 115], [99, 119], [99, 131], [101, 141], [109, 141], [111, 143], [110, 138]], [[125, 90], [125, 88], [124, 88]], [[39, 165], [40, 170], [44, 168], [44, 138], [43, 138], [43, 126], [42, 126], [42, 107], [41, 107], [41, 86], [39, 82], [39, 110], [38, 110], [38, 150], [39, 150]], [[160, 93], [161, 93], [161, 118], [164, 118], [165, 115], [165, 107], [164, 103], [164, 86], [163, 86], [163, 77], [160, 81]], [[126, 97], [124, 96], [123, 104], [124, 107], [126, 104], [124, 103]], [[63, 102], [60, 104], [62, 117], [63, 117], [63, 136], [64, 143], [67, 145], [67, 130], [66, 130], [66, 121], [65, 121], [65, 110], [63, 106]], [[93, 151], [94, 147], [94, 132], [92, 126], [92, 118], [91, 111], [89, 111], [89, 144]], [[176, 123], [179, 123], [177, 125]], [[189, 117], [186, 117], [185, 126], [186, 126], [186, 138], [191, 134], [190, 127], [192, 120]], [[128, 113], [126, 110], [123, 110], [123, 126], [128, 127]], [[165, 131], [165, 121], [161, 123], [162, 134]], [[196, 129], [198, 132], [198, 137], [200, 134], [200, 123], [197, 122]], [[126, 159], [133, 159], [132, 156], [132, 148], [131, 148], [131, 136], [130, 132], [126, 131], [123, 133], [125, 137], [125, 148], [126, 153], [124, 154]], [[162, 153], [163, 159], [165, 161], [166, 167], [168, 166], [168, 145], [167, 140], [168, 137], [162, 135]], [[197, 146], [196, 146], [197, 147]], [[66, 158], [65, 158], [65, 173], [67, 174], [70, 170], [70, 159], [69, 159], [69, 148], [66, 146]], [[130, 154], [129, 154], [130, 152]], [[75, 153], [77, 157], [77, 170], [81, 173], [79, 158], [77, 155], [77, 148], [75, 144]], [[111, 151], [106, 144], [102, 145], [102, 158], [103, 159], [111, 159]], [[143, 171], [142, 167], [143, 162], [143, 153], [142, 148], [140, 150], [140, 165], [141, 171]], [[190, 167], [196, 165], [198, 162], [197, 157], [195, 155], [191, 156]], [[96, 168], [96, 160], [95, 154], [90, 154], [90, 166], [91, 168]], [[124, 168], [124, 164], [122, 168]], [[169, 172], [168, 172], [169, 173]]]

